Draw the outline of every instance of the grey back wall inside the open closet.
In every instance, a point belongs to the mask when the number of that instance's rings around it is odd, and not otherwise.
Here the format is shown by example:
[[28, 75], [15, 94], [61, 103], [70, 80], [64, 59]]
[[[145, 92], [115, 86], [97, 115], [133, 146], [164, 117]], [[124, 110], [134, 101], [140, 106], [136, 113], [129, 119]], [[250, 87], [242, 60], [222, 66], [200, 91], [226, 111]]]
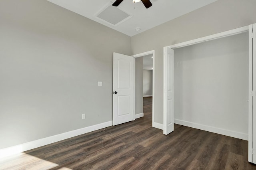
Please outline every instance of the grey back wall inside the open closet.
[[248, 134], [248, 32], [174, 49], [174, 119]]

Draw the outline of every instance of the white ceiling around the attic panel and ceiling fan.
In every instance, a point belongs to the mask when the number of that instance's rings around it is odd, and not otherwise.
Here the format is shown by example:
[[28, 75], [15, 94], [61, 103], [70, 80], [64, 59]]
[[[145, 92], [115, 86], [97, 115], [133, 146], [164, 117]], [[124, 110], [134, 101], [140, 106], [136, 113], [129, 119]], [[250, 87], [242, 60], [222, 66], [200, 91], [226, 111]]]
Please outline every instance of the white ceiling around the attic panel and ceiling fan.
[[[136, 3], [135, 10], [132, 0], [124, 0], [117, 8], [130, 14], [132, 17], [116, 26], [108, 24], [96, 17], [99, 12], [111, 5], [115, 0], [111, 0], [112, 2], [110, 0], [48, 1], [128, 36], [134, 36], [217, 0], [150, 0], [153, 4], [150, 8], [146, 9], [142, 2], [138, 2]], [[140, 28], [141, 30], [136, 31], [136, 28]]]

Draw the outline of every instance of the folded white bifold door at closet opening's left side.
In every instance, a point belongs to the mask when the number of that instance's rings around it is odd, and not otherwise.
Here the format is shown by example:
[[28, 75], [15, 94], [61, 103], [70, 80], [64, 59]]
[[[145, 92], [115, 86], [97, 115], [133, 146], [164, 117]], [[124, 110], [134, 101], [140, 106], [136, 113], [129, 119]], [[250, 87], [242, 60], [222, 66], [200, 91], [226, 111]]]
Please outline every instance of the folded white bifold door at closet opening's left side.
[[164, 47], [164, 134], [174, 130], [174, 50]]

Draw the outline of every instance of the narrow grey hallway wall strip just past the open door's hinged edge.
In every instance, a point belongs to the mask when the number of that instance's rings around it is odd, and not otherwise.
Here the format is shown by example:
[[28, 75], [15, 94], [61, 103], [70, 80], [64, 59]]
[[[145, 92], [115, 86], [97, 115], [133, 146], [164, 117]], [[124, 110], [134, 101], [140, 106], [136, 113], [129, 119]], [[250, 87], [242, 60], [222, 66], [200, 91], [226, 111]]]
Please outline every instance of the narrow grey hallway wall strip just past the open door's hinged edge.
[[135, 114], [143, 113], [143, 57], [135, 58]]

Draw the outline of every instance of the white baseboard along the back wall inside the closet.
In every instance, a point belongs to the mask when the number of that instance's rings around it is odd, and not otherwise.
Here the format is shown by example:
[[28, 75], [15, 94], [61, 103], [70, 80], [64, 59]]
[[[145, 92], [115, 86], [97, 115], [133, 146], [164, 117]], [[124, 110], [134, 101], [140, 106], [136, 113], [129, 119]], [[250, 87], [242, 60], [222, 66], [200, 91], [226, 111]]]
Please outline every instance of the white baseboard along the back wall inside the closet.
[[213, 132], [213, 133], [223, 134], [223, 135], [226, 135], [226, 136], [231, 136], [231, 137], [234, 137], [234, 138], [248, 140], [248, 134], [241, 133], [241, 132], [235, 132], [235, 131], [232, 131], [232, 130], [210, 127], [210, 126], [207, 126], [207, 125], [202, 125], [202, 124], [188, 122], [188, 121], [182, 121], [182, 120], [178, 120], [178, 119], [174, 119], [174, 123], [176, 123], [178, 125], [183, 125], [183, 126], [186, 126], [186, 127], [197, 128], [197, 129], [201, 129], [201, 130], [206, 130], [208, 132]]

